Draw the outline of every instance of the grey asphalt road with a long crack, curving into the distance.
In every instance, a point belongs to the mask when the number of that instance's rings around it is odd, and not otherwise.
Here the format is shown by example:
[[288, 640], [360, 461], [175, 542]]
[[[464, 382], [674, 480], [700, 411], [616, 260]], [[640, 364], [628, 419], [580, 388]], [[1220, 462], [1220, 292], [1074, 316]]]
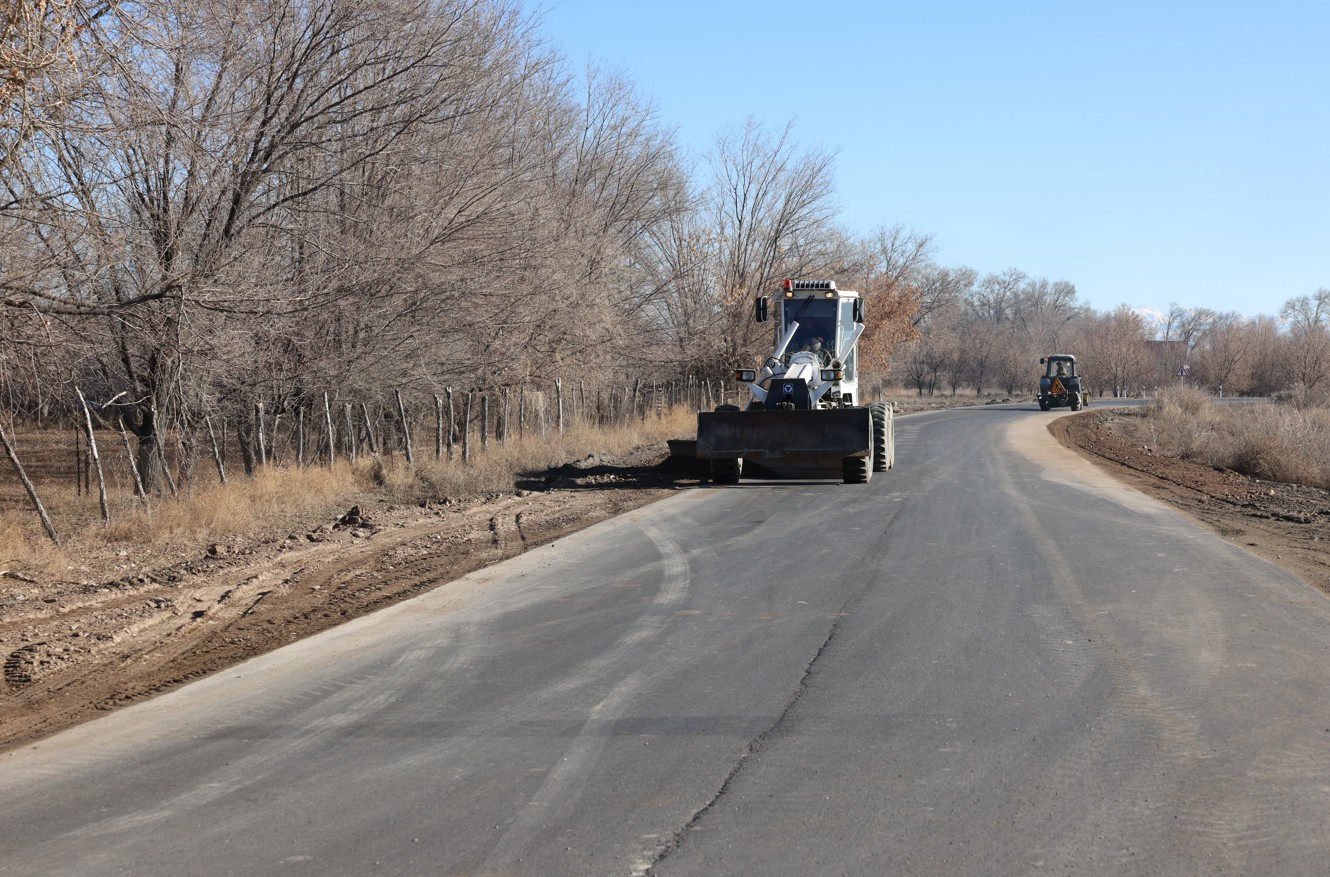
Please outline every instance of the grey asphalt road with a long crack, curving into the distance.
[[0, 874], [1323, 874], [1330, 602], [1060, 448], [896, 423], [0, 757]]

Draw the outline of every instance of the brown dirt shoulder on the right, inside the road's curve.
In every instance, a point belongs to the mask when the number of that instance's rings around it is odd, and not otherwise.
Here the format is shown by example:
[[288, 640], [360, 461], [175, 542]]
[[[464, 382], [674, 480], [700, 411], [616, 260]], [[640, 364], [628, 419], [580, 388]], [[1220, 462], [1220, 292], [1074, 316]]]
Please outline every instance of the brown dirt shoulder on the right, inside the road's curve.
[[1134, 409], [1057, 418], [1049, 431], [1120, 480], [1330, 594], [1330, 491], [1157, 454], [1145, 413]]

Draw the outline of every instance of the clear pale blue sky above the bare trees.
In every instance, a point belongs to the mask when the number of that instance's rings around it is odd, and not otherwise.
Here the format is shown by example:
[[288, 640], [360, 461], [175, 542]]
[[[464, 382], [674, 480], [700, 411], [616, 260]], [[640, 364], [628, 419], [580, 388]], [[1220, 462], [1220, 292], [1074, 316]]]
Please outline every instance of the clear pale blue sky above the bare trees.
[[529, 0], [700, 160], [753, 117], [835, 150], [843, 224], [1120, 303], [1330, 287], [1330, 4]]

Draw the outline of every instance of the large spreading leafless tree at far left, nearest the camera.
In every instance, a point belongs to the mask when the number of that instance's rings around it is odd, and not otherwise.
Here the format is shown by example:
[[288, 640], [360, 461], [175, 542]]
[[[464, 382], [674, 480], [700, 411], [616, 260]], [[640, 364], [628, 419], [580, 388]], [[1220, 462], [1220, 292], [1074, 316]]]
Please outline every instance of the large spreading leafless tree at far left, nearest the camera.
[[[362, 350], [400, 362], [406, 341], [390, 330], [431, 325], [443, 270], [463, 263], [471, 279], [479, 257], [512, 249], [484, 236], [513, 225], [508, 184], [532, 173], [513, 161], [515, 125], [487, 124], [532, 105], [515, 96], [543, 61], [503, 0], [134, 12], [116, 31], [124, 61], [7, 178], [11, 217], [48, 270], [5, 303], [64, 321], [93, 386], [128, 387], [150, 474], [158, 414], [178, 418], [246, 374], [327, 386], [329, 365], [354, 374]], [[495, 130], [501, 148], [480, 137]], [[420, 189], [446, 145], [464, 166]], [[411, 224], [426, 204], [435, 221]]]

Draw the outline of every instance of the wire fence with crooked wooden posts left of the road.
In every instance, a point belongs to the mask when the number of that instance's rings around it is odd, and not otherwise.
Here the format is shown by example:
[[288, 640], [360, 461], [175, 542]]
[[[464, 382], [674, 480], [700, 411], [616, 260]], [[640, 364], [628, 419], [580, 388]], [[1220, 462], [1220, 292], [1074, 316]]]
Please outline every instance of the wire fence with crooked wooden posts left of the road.
[[[733, 398], [734, 391], [728, 391], [724, 381], [696, 377], [630, 383], [555, 378], [499, 387], [450, 386], [428, 395], [392, 389], [370, 399], [344, 398], [330, 389], [302, 405], [255, 399], [243, 415], [194, 411], [172, 422], [158, 418], [150, 439], [140, 438], [141, 444], [150, 442], [148, 452], [161, 472], [161, 482], [152, 487], [140, 466], [142, 448], [136, 452], [124, 421], [113, 418], [114, 397], [98, 401], [84, 398], [81, 391], [76, 395], [77, 407], [55, 418], [61, 426], [51, 427], [48, 419], [48, 426], [40, 429], [47, 438], [43, 450], [32, 454], [36, 466], [23, 460], [25, 430], [13, 415], [8, 429], [0, 423], [0, 446], [53, 543], [60, 536], [40, 498], [39, 480], [45, 486], [72, 480], [76, 496], [90, 496], [96, 490], [101, 523], [109, 526], [112, 495], [129, 494], [148, 504], [153, 492], [169, 490], [178, 495], [198, 483], [214, 483], [201, 468], [211, 470], [215, 483], [226, 484], [234, 478], [237, 458], [246, 476], [270, 467], [355, 464], [364, 456], [400, 458], [408, 466], [431, 458], [434, 464], [469, 466], [492, 444], [520, 444], [575, 430], [622, 429], [678, 410], [710, 410], [724, 405], [726, 397]], [[52, 429], [72, 434], [68, 443], [57, 443], [64, 451], [51, 450]], [[120, 451], [113, 450], [117, 444]], [[21, 500], [11, 496], [5, 504], [16, 502]]]

